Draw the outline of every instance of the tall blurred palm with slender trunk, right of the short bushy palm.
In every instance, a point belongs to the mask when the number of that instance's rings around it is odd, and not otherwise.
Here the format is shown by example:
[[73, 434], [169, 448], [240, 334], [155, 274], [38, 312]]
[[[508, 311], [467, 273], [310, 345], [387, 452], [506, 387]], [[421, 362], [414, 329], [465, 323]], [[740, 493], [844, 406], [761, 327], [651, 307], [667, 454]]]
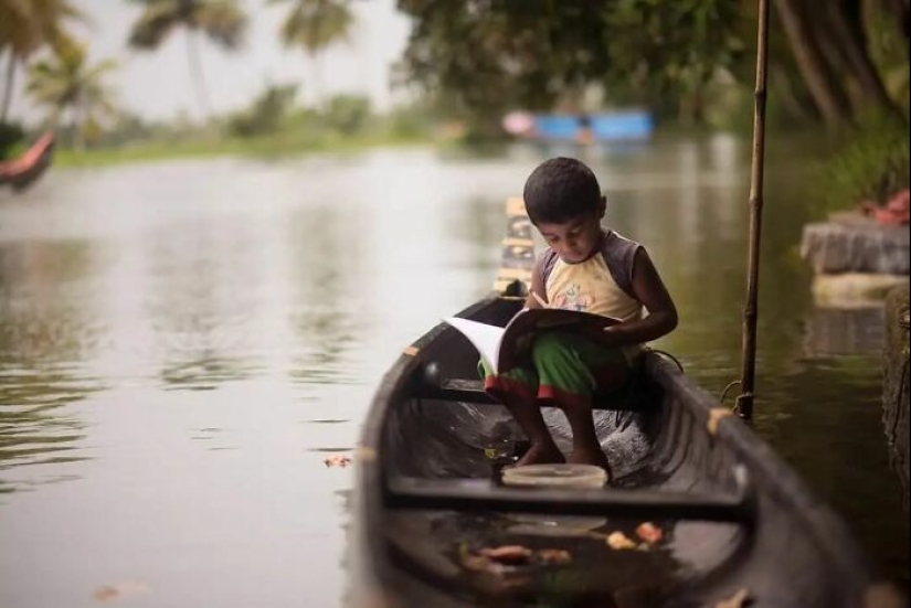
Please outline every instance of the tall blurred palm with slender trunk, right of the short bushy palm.
[[205, 74], [199, 53], [200, 34], [226, 51], [243, 44], [247, 18], [237, 0], [133, 0], [142, 4], [142, 14], [133, 26], [129, 44], [134, 49], [155, 50], [174, 30], [187, 31], [187, 58], [203, 114], [212, 114]]

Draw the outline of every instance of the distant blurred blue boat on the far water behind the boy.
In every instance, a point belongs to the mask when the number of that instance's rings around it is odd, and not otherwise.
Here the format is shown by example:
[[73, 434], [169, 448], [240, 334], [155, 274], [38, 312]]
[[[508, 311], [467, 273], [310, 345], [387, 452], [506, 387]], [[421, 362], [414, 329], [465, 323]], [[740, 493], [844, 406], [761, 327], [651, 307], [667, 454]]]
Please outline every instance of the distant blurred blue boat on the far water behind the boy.
[[644, 141], [655, 132], [655, 120], [645, 110], [586, 116], [536, 115], [530, 137], [543, 141], [603, 143]]

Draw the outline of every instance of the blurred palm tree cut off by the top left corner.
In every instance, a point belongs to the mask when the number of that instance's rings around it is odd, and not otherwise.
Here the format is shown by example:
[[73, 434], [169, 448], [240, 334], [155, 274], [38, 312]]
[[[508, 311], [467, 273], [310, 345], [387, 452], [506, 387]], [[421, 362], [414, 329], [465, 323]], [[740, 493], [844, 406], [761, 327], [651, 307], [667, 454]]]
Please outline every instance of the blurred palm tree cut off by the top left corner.
[[70, 0], [3, 0], [0, 2], [0, 56], [7, 54], [0, 122], [9, 116], [15, 73], [39, 49], [66, 38], [67, 20], [82, 19]]

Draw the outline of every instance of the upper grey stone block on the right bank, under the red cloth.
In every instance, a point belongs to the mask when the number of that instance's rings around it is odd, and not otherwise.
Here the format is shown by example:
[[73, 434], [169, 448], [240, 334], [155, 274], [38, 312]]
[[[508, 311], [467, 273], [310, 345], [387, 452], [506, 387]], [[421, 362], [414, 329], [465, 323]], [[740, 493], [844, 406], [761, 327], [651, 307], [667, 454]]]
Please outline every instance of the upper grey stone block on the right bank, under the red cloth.
[[804, 227], [801, 257], [819, 274], [908, 275], [911, 235], [907, 226], [884, 226], [862, 216], [838, 216]]

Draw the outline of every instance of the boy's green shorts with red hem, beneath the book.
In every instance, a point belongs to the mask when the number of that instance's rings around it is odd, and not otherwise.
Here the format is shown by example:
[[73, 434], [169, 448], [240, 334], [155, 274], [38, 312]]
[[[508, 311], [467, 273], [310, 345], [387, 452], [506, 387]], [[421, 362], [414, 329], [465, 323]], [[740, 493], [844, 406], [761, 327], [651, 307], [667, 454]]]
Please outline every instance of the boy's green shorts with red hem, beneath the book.
[[606, 349], [575, 333], [547, 332], [534, 340], [528, 365], [495, 375], [481, 359], [478, 372], [485, 390], [497, 398], [511, 394], [528, 402], [590, 407], [595, 393], [626, 386], [633, 365], [622, 349]]

